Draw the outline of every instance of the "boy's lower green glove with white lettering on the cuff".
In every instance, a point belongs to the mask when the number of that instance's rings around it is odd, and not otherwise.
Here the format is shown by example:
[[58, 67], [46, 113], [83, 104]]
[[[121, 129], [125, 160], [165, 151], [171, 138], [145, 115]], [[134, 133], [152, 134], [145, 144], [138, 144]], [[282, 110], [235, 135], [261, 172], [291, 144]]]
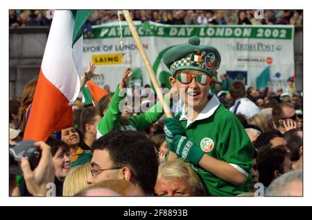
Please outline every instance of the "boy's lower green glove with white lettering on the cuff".
[[198, 162], [205, 154], [202, 149], [195, 146], [189, 138], [181, 135], [175, 135], [173, 137], [173, 149], [177, 155], [179, 155], [184, 160], [198, 165]]

